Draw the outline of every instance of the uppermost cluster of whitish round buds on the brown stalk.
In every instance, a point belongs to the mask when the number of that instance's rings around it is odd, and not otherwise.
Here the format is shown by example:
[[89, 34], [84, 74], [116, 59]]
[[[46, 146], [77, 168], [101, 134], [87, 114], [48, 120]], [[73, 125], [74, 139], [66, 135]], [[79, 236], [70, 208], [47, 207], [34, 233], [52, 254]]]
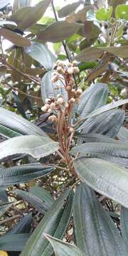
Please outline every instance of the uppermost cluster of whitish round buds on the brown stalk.
[[[65, 63], [62, 60], [57, 60], [56, 62], [56, 72], [53, 75], [52, 82], [57, 82], [60, 78], [60, 75], [63, 75], [66, 77], [66, 75], [75, 75], [80, 73], [80, 69], [78, 68], [78, 63], [76, 60], [73, 60], [73, 63], [68, 63], [68, 65], [65, 65]], [[73, 80], [74, 82], [74, 80]]]

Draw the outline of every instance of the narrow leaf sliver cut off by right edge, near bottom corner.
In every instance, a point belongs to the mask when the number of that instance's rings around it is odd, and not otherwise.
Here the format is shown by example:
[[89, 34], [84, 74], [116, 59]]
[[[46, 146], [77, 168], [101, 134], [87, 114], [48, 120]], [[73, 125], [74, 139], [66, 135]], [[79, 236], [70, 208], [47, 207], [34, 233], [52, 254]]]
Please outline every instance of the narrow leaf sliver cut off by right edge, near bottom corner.
[[122, 238], [124, 240], [128, 252], [128, 210], [123, 206], [121, 208], [120, 214], [120, 227], [122, 232]]

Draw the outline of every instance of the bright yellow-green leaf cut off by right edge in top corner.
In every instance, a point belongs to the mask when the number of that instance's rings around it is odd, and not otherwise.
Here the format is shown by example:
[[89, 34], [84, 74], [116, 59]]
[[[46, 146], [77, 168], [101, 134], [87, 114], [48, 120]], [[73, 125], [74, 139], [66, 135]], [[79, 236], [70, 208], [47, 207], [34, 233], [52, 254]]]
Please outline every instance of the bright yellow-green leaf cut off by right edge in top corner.
[[115, 9], [116, 18], [121, 18], [124, 20], [128, 20], [128, 5], [127, 4], [119, 4]]

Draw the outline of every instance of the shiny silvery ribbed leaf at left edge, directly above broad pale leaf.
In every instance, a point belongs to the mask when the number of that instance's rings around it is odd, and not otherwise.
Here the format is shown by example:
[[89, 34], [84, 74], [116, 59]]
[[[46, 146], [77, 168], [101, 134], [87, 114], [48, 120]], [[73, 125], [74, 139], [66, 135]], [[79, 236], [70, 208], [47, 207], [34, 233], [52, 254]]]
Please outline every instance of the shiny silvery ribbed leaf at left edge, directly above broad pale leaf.
[[5, 110], [3, 107], [0, 107], [0, 134], [6, 137], [16, 137], [21, 134], [47, 136], [46, 133], [35, 124], [32, 124], [14, 112]]

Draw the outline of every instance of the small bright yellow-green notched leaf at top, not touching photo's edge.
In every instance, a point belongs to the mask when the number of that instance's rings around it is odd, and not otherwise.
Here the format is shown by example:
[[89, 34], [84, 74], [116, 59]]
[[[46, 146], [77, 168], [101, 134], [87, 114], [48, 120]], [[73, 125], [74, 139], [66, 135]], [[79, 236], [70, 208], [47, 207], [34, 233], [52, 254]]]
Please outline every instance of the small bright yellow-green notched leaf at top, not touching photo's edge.
[[112, 11], [112, 6], [109, 6], [107, 10], [105, 7], [102, 7], [96, 12], [95, 17], [98, 21], [109, 21], [112, 16]]

